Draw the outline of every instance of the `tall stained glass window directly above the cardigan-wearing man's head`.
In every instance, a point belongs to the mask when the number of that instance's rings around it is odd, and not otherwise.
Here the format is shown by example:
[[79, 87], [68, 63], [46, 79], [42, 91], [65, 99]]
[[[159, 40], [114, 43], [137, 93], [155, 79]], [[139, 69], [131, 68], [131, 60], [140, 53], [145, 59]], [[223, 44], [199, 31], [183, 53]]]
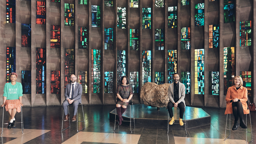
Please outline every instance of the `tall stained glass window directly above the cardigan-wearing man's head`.
[[177, 72], [177, 50], [168, 50], [168, 83], [173, 83], [172, 74]]

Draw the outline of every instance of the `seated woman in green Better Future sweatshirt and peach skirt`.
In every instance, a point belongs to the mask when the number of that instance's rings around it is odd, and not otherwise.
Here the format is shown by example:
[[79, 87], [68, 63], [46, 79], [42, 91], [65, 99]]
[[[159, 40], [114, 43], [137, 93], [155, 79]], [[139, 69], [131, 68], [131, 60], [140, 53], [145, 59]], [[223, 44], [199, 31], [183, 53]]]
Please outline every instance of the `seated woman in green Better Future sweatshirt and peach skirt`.
[[11, 115], [11, 120], [7, 126], [8, 129], [11, 129], [12, 126], [15, 127], [15, 114], [20, 112], [20, 106], [22, 104], [22, 84], [16, 82], [17, 74], [12, 72], [10, 75], [11, 83], [6, 83], [4, 88], [4, 103], [1, 107], [5, 106], [6, 111]]

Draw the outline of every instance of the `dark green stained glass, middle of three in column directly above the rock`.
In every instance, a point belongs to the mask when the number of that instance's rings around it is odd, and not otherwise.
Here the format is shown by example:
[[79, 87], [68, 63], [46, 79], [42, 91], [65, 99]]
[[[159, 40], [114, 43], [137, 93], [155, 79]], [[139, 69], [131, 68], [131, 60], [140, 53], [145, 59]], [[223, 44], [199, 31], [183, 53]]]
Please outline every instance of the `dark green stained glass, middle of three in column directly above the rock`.
[[163, 50], [165, 43], [165, 35], [163, 29], [155, 30], [155, 50]]

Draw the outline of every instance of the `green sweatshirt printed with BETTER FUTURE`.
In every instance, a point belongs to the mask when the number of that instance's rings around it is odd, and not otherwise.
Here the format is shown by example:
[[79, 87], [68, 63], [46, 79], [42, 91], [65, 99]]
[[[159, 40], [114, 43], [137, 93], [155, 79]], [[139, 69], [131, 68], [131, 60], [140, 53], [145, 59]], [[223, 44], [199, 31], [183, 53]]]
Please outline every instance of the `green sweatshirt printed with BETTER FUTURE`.
[[23, 96], [22, 92], [21, 83], [16, 82], [15, 85], [12, 85], [12, 83], [6, 83], [3, 96], [7, 97], [6, 100], [17, 100], [20, 96]]

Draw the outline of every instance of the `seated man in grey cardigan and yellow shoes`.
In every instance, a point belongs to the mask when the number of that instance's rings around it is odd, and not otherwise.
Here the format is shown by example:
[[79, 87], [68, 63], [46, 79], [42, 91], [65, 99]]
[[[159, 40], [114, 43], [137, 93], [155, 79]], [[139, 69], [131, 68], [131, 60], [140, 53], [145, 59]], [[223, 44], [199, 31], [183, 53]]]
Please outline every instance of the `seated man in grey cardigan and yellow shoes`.
[[174, 73], [173, 74], [173, 80], [174, 82], [169, 86], [168, 88], [168, 97], [170, 98], [170, 101], [167, 104], [168, 112], [170, 117], [172, 118], [169, 122], [169, 125], [172, 125], [174, 122], [173, 118], [173, 107], [178, 107], [180, 109], [180, 118], [179, 118], [179, 124], [183, 126], [183, 114], [184, 114], [184, 108], [185, 108], [185, 85], [183, 83], [179, 82], [179, 74]]

